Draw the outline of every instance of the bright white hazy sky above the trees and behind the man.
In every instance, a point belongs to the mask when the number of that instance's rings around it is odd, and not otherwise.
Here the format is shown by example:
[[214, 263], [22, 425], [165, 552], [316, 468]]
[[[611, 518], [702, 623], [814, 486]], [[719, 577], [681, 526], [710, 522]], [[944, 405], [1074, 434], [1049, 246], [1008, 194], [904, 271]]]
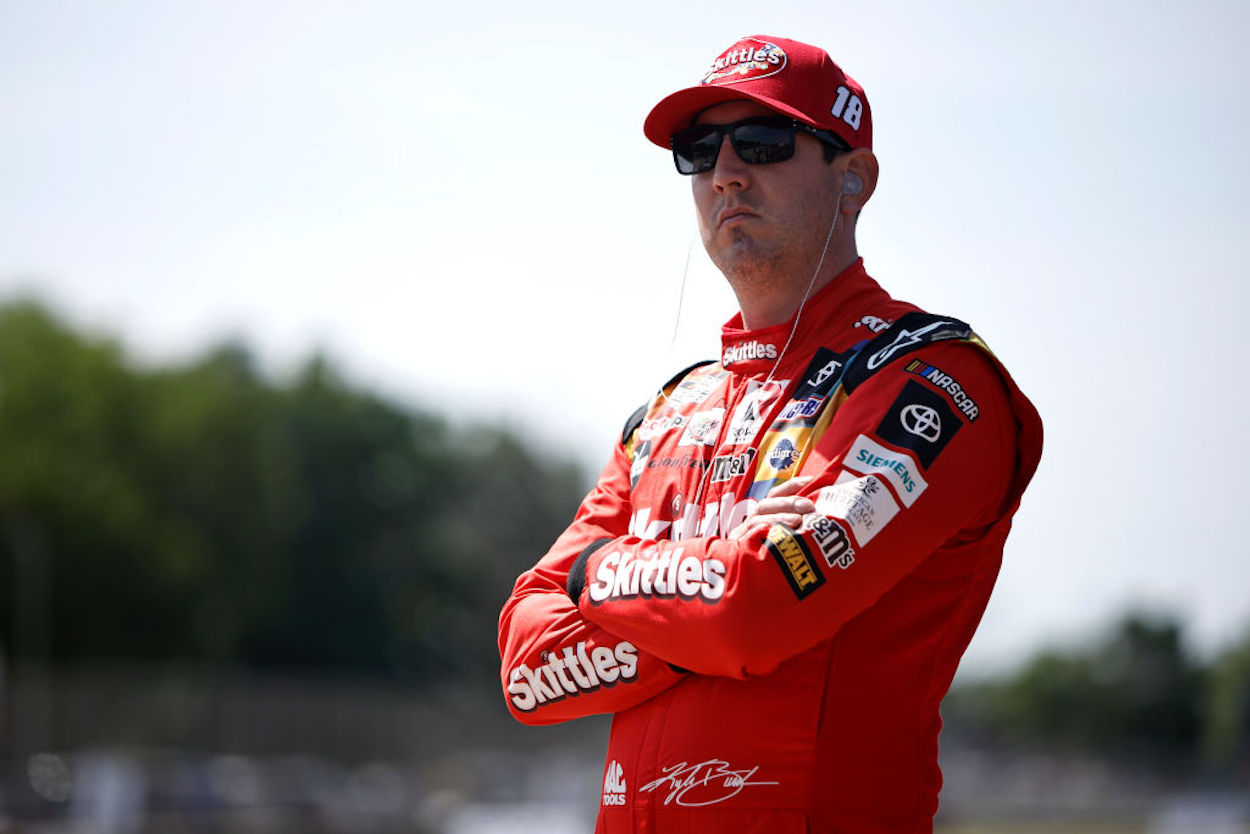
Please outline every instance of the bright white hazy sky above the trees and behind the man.
[[695, 245], [670, 345], [694, 215], [642, 118], [798, 38], [872, 105], [870, 273], [972, 323], [1046, 423], [969, 666], [1134, 604], [1208, 653], [1250, 626], [1250, 6], [590, 5], [8, 0], [0, 300], [148, 361], [324, 349], [596, 470], [734, 311]]

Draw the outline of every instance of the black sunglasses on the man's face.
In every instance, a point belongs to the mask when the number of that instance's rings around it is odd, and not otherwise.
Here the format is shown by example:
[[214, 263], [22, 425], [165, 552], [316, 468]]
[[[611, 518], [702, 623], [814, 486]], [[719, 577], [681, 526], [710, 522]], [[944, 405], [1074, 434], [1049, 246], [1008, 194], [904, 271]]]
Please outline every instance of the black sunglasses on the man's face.
[[755, 116], [728, 125], [695, 125], [672, 134], [669, 145], [679, 174], [702, 174], [715, 168], [721, 136], [729, 136], [734, 153], [748, 165], [770, 165], [794, 156], [795, 135], [800, 130], [836, 150], [850, 150], [836, 134], [785, 116]]

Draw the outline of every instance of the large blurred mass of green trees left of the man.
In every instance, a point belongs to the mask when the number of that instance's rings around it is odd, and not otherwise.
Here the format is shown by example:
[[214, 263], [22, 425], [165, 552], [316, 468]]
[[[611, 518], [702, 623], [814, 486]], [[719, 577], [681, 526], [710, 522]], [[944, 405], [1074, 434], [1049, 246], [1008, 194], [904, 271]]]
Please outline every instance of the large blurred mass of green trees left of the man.
[[240, 345], [141, 369], [0, 308], [6, 653], [494, 678], [499, 608], [584, 478], [452, 418], [320, 356], [286, 385]]

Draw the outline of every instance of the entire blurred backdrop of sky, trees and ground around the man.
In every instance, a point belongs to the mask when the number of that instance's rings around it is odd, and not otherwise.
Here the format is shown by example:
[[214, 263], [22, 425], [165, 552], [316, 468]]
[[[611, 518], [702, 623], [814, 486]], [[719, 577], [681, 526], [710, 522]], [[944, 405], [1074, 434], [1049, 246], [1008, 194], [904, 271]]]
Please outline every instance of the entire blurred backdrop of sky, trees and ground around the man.
[[0, 3], [0, 831], [590, 830], [495, 623], [732, 296], [641, 120], [746, 34], [1046, 423], [939, 830], [1250, 831], [1242, 3]]

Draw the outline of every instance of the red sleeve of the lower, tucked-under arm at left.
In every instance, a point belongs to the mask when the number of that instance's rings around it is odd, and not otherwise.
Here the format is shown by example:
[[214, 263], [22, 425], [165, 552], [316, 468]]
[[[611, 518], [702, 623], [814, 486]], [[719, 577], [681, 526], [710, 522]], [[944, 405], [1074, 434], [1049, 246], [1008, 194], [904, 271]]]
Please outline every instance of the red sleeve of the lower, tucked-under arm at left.
[[629, 459], [622, 446], [604, 468], [568, 530], [521, 574], [499, 618], [508, 708], [525, 724], [618, 713], [685, 675], [609, 629], [588, 623], [566, 590], [574, 560], [629, 526]]

